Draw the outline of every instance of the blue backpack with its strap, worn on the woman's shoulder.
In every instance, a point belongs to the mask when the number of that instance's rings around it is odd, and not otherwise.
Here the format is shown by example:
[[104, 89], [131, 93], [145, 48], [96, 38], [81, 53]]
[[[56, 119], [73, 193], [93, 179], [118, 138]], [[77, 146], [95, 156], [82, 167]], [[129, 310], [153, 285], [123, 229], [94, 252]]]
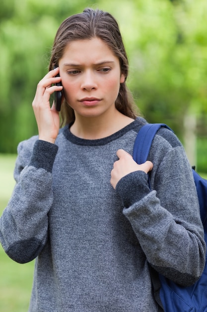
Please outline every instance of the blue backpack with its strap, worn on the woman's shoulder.
[[[152, 140], [161, 127], [171, 130], [165, 124], [146, 124], [139, 130], [133, 151], [133, 158], [139, 164], [147, 160]], [[194, 169], [192, 170], [207, 243], [207, 180]], [[207, 312], [207, 256], [204, 272], [193, 286], [179, 286], [162, 275], [157, 275], [153, 269], [151, 269], [151, 279], [155, 299], [165, 312]]]

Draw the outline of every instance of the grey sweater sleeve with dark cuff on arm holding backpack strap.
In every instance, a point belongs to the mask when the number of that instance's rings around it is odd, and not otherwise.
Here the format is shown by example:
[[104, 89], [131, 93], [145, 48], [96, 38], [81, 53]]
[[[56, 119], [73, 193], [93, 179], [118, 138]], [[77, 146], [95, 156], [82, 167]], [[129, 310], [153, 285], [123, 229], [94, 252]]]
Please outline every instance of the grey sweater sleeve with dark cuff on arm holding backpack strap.
[[150, 265], [175, 283], [188, 286], [202, 275], [206, 258], [192, 170], [181, 145], [172, 147], [157, 136], [151, 149], [151, 155], [157, 153], [152, 191], [146, 174], [136, 171], [118, 182], [116, 192]]

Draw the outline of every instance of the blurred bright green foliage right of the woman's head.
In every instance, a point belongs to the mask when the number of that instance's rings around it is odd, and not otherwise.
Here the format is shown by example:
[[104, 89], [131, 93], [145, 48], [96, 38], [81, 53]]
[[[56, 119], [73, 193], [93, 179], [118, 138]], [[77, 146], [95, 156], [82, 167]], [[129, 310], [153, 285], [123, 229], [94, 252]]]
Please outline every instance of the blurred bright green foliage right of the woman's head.
[[207, 142], [206, 13], [205, 0], [139, 0], [116, 12], [141, 112], [171, 126], [193, 164], [197, 135]]

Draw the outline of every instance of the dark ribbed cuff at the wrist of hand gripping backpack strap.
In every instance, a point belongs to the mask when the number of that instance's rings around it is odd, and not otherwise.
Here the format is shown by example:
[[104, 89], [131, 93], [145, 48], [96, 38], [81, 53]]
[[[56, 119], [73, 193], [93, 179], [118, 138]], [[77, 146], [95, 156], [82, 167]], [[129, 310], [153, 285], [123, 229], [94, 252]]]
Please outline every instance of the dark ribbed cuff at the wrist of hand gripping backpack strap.
[[135, 171], [125, 175], [116, 186], [116, 193], [126, 208], [138, 202], [149, 192], [148, 176], [144, 171]]

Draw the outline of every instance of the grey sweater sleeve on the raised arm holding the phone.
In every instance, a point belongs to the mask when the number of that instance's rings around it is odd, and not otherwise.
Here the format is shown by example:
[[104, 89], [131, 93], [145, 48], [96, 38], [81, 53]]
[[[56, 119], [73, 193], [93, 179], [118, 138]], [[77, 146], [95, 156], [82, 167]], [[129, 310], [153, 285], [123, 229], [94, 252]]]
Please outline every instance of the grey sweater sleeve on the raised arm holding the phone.
[[58, 147], [41, 140], [19, 144], [16, 185], [0, 218], [0, 241], [7, 255], [26, 263], [43, 249], [53, 203], [52, 167]]

